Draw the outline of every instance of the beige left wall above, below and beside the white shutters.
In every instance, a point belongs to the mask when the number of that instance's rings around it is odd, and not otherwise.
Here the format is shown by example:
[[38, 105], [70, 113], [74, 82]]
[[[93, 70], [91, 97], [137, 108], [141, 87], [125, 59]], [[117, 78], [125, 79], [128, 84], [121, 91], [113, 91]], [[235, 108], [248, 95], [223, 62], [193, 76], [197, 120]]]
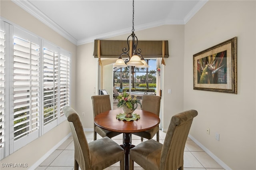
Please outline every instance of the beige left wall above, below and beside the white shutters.
[[[48, 26], [42, 24], [39, 20], [32, 17], [30, 14], [25, 12], [22, 8], [14, 4], [12, 1], [2, 1], [1, 6], [1, 17], [9, 20], [12, 23], [25, 28], [26, 30], [33, 32], [34, 34], [48, 40], [59, 47], [62, 47], [71, 52], [72, 55], [72, 82], [71, 82], [71, 105], [75, 103], [75, 81], [76, 81], [76, 45], [69, 42]], [[63, 140], [70, 133], [70, 127], [67, 121], [64, 121], [57, 127], [53, 128], [40, 138], [30, 142], [26, 146], [20, 148], [13, 154], [10, 154], [6, 158], [1, 160], [1, 163], [27, 163], [28, 168], [31, 168], [38, 160], [40, 160], [47, 152], [54, 148], [61, 140]], [[58, 134], [58, 135], [56, 135]], [[28, 169], [24, 168], [24, 169]], [[1, 166], [1, 169], [4, 169]], [[13, 169], [13, 168], [10, 168]]]

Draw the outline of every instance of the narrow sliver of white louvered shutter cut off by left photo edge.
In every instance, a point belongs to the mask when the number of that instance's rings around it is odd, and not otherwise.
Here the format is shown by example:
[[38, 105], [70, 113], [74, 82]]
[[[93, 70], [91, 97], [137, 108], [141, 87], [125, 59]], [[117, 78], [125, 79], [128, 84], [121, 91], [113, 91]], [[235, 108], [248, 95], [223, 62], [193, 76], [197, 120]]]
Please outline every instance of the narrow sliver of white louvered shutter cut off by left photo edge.
[[5, 115], [6, 115], [6, 34], [5, 23], [0, 28], [0, 159], [4, 158], [5, 149]]

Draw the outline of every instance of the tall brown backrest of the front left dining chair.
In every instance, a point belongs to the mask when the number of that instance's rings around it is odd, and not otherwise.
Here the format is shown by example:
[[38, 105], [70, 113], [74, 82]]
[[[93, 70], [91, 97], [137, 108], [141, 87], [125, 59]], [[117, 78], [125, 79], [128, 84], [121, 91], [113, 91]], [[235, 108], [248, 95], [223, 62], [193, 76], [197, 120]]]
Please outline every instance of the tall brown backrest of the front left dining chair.
[[91, 164], [90, 150], [80, 117], [70, 106], [64, 106], [62, 111], [69, 121], [74, 139], [75, 160], [78, 162], [82, 170], [87, 169]]

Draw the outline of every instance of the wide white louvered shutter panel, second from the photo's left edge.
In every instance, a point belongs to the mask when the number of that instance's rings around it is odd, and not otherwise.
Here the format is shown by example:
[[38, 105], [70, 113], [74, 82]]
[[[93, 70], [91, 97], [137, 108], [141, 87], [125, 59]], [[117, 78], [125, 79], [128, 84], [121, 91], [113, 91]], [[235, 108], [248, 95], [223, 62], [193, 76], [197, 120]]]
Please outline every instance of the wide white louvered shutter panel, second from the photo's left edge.
[[15, 28], [13, 41], [14, 141], [26, 138], [14, 144], [16, 150], [39, 136], [40, 40]]

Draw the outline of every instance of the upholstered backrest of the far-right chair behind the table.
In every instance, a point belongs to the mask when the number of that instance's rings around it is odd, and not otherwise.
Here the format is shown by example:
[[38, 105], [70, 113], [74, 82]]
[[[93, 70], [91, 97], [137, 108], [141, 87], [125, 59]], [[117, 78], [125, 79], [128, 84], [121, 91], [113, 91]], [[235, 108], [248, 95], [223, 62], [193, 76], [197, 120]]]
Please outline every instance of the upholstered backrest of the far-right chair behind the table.
[[155, 95], [143, 95], [141, 109], [149, 111], [159, 116], [160, 113], [160, 96]]

